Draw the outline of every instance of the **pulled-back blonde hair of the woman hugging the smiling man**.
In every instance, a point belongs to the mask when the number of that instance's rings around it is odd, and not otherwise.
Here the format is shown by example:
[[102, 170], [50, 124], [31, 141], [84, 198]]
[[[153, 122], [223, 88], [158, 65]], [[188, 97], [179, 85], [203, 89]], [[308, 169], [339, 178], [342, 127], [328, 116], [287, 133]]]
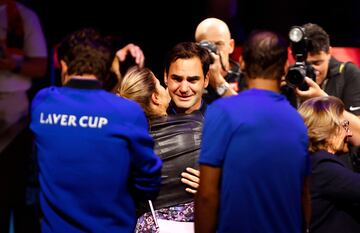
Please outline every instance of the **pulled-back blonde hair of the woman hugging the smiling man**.
[[154, 73], [148, 68], [131, 67], [125, 74], [116, 94], [140, 104], [147, 117], [154, 115], [151, 95], [156, 92]]

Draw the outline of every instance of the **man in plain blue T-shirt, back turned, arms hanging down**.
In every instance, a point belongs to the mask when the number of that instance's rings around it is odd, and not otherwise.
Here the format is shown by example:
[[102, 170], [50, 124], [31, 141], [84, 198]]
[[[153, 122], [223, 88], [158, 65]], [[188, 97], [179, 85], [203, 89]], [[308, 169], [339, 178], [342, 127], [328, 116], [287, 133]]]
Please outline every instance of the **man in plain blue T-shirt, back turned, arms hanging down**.
[[307, 129], [280, 94], [287, 48], [273, 32], [252, 33], [241, 63], [249, 89], [207, 109], [196, 232], [300, 233], [307, 228]]

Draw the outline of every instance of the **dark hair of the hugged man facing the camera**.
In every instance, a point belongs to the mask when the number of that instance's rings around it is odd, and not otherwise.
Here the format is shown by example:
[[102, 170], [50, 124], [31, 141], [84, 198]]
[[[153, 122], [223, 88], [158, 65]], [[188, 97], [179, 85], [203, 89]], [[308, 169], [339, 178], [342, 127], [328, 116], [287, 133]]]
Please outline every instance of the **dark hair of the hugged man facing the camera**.
[[167, 74], [169, 73], [171, 63], [175, 62], [177, 59], [190, 59], [193, 57], [198, 57], [200, 59], [205, 76], [209, 71], [213, 59], [207, 49], [202, 48], [195, 42], [180, 42], [176, 44], [168, 53], [165, 61], [165, 72]]

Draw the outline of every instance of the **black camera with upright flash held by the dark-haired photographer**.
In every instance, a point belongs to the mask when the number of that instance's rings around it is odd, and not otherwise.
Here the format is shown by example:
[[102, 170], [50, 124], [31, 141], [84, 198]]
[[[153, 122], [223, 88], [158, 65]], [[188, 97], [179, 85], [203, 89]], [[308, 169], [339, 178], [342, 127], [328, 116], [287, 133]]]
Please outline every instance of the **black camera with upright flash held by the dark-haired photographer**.
[[308, 38], [305, 29], [299, 26], [291, 27], [289, 39], [295, 64], [289, 67], [285, 80], [288, 86], [306, 91], [309, 87], [305, 82], [305, 76], [315, 81], [316, 74], [314, 68], [306, 64]]

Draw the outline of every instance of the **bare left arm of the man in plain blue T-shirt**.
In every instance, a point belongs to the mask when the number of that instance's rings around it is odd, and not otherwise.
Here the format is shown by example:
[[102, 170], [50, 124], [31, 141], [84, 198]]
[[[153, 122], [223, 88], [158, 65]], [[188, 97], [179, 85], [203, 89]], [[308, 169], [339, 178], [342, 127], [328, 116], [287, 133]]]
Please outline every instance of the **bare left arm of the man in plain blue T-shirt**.
[[195, 232], [216, 232], [221, 169], [200, 165], [200, 185], [195, 195]]

